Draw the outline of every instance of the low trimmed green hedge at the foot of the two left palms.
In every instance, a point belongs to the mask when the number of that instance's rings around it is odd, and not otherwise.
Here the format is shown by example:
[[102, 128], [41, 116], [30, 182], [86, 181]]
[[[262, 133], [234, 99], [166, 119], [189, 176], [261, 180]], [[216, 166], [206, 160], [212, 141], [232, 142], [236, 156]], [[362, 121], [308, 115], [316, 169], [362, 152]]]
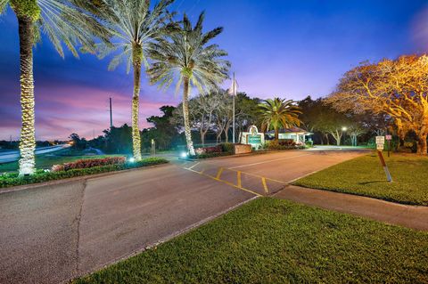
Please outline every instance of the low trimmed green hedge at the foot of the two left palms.
[[134, 163], [123, 163], [108, 166], [94, 166], [82, 169], [70, 169], [68, 171], [60, 172], [46, 172], [43, 170], [37, 170], [36, 174], [29, 176], [18, 176], [17, 173], [13, 174], [2, 174], [0, 175], [0, 188], [6, 188], [17, 185], [25, 185], [31, 183], [44, 183], [54, 180], [62, 180], [71, 177], [89, 175], [89, 174], [102, 174], [108, 172], [115, 172], [121, 170], [127, 170], [131, 168], [143, 167], [143, 166], [154, 166], [160, 164], [166, 164], [169, 161], [165, 158], [144, 158], [141, 161]]

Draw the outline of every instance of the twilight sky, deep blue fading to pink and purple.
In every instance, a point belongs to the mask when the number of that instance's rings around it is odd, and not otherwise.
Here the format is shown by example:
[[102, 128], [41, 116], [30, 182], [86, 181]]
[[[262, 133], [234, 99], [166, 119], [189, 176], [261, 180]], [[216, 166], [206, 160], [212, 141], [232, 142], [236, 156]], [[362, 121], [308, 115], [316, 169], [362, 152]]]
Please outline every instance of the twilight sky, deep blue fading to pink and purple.
[[[324, 96], [360, 61], [428, 52], [426, 0], [176, 0], [172, 8], [193, 21], [204, 10], [206, 29], [225, 28], [216, 41], [240, 91], [260, 98]], [[109, 97], [114, 125], [130, 125], [132, 76], [125, 66], [108, 71], [108, 62], [89, 54], [62, 59], [43, 38], [34, 64], [37, 140], [101, 134], [110, 124]], [[0, 18], [0, 139], [19, 138], [19, 94], [18, 28], [9, 10]], [[143, 78], [141, 127], [178, 101]]]

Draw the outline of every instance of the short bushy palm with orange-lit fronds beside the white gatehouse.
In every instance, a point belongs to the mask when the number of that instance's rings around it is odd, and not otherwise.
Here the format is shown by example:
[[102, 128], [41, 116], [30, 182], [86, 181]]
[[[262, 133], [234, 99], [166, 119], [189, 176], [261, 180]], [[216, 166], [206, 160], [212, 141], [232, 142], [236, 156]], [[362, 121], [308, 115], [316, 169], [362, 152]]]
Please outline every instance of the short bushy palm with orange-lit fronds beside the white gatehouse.
[[259, 103], [261, 128], [263, 131], [273, 128], [275, 130], [275, 141], [279, 138], [279, 128], [300, 126], [300, 108], [295, 101], [275, 98], [264, 100]]

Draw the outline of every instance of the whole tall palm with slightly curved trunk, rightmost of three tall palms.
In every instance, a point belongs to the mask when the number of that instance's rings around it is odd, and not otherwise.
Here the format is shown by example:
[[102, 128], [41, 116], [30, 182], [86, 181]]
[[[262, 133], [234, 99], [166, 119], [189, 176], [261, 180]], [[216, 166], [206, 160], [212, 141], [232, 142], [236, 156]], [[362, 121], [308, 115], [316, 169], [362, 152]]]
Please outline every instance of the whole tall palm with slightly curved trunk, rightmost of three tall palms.
[[152, 67], [147, 70], [152, 84], [159, 83], [167, 89], [177, 81], [176, 93], [183, 86], [183, 118], [185, 125], [185, 140], [190, 155], [194, 155], [193, 142], [189, 123], [189, 93], [191, 85], [201, 93], [217, 89], [226, 79], [229, 61], [222, 59], [227, 53], [218, 45], [207, 45], [217, 37], [223, 28], [214, 28], [207, 33], [202, 32], [202, 12], [194, 26], [184, 15], [179, 30], [162, 37], [152, 44]]

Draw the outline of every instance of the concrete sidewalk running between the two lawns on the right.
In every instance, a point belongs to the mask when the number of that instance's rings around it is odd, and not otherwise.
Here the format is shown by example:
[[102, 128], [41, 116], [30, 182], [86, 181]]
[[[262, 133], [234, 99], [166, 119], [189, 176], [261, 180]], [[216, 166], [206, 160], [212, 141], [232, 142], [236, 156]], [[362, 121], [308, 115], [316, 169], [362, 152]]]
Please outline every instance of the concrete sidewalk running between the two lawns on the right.
[[428, 207], [409, 206], [333, 191], [322, 191], [294, 185], [272, 195], [309, 206], [358, 215], [383, 223], [428, 231]]

